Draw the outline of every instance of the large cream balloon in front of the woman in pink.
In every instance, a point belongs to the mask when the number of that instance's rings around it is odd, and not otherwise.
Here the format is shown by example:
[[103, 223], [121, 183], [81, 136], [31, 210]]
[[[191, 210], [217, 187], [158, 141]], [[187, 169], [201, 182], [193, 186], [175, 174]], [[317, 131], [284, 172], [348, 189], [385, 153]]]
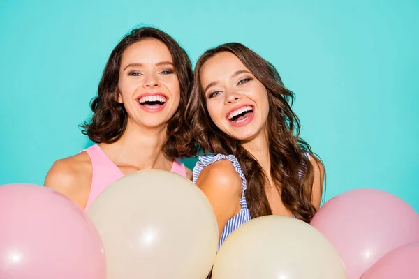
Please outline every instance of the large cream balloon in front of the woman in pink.
[[128, 174], [88, 212], [106, 255], [108, 279], [205, 279], [218, 248], [214, 211], [189, 179], [152, 169]]

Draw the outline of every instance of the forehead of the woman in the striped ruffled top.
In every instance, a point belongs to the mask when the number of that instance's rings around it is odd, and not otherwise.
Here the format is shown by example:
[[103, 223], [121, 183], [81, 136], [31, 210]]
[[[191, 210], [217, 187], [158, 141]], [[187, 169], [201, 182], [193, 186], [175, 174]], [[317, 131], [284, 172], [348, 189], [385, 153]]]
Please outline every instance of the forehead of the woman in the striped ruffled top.
[[201, 83], [209, 84], [230, 77], [237, 70], [249, 70], [242, 61], [231, 52], [220, 52], [208, 59], [200, 70]]

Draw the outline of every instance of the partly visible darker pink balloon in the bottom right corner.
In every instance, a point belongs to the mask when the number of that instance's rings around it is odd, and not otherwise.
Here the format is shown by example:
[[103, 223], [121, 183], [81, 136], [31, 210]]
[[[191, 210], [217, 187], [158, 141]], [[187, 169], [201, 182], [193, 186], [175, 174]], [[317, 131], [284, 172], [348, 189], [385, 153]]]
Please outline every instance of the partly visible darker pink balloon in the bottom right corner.
[[362, 279], [418, 279], [418, 259], [419, 243], [402, 246], [378, 259]]

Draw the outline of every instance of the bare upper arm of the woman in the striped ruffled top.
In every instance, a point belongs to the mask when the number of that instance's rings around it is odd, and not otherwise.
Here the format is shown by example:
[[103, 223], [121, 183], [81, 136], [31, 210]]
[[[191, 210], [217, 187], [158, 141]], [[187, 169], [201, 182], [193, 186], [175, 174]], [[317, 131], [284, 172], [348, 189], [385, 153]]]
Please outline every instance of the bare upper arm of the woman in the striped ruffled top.
[[229, 160], [219, 160], [204, 167], [196, 185], [210, 200], [219, 227], [219, 237], [230, 218], [240, 211], [242, 179]]

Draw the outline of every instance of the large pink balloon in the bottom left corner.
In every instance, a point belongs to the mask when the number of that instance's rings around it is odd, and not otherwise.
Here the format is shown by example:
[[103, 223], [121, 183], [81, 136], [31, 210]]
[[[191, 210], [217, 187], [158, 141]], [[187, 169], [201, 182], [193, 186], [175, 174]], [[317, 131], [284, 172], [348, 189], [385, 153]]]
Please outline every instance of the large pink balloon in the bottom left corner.
[[1, 279], [104, 279], [96, 229], [70, 199], [30, 184], [0, 186]]

